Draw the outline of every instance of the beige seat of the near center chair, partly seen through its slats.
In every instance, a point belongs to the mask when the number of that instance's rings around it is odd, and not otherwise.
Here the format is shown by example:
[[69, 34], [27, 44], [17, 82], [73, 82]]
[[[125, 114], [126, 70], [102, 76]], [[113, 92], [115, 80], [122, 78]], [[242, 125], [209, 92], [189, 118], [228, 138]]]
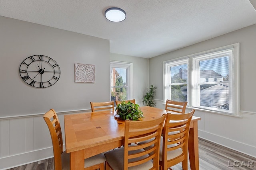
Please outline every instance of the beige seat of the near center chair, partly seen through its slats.
[[[135, 146], [135, 145], [136, 144], [132, 144], [131, 146]], [[141, 152], [141, 151], [144, 151], [144, 150], [140, 149], [140, 150], [129, 151], [129, 154], [138, 153], [138, 152]], [[123, 170], [124, 169], [124, 147], [114, 149], [114, 150], [110, 150], [110, 151], [105, 153], [105, 156], [106, 156], [106, 160], [107, 160], [108, 164], [114, 170]], [[140, 158], [146, 158], [146, 157], [147, 156], [144, 155], [144, 156], [141, 156]], [[131, 159], [131, 160], [129, 160], [129, 162], [135, 161], [135, 160], [138, 160], [138, 158]], [[153, 161], [150, 160], [150, 161], [145, 162], [143, 164], [129, 167], [128, 169], [129, 170], [149, 170], [152, 167], [153, 167]]]

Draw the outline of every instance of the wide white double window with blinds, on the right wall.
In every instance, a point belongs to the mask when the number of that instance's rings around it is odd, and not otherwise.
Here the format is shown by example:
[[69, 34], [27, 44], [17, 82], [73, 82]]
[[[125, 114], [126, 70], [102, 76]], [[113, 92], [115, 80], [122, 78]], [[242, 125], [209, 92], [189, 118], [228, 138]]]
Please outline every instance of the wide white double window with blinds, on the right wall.
[[164, 62], [164, 101], [238, 114], [239, 43]]

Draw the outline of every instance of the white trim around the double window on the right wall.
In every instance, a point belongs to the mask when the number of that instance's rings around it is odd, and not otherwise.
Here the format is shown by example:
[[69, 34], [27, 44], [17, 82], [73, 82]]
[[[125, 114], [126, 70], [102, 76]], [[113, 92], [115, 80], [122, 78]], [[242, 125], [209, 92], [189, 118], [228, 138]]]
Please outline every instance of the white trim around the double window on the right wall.
[[214, 53], [216, 51], [221, 51], [221, 50], [225, 50], [225, 49], [230, 49], [232, 48], [234, 49], [234, 87], [232, 88], [233, 89], [233, 92], [232, 92], [232, 98], [233, 98], [233, 101], [236, 101], [236, 102], [233, 102], [233, 106], [232, 106], [232, 113], [227, 113], [227, 112], [222, 112], [222, 111], [212, 111], [212, 110], [207, 110], [207, 109], [202, 109], [202, 108], [196, 108], [196, 109], [199, 109], [199, 110], [202, 110], [202, 111], [207, 111], [207, 112], [211, 112], [211, 113], [220, 113], [220, 114], [223, 114], [223, 115], [234, 115], [236, 117], [240, 117], [240, 43], [234, 43], [234, 44], [231, 44], [231, 45], [227, 45], [227, 46], [224, 46], [224, 47], [219, 47], [219, 48], [216, 48], [216, 49], [211, 49], [211, 50], [208, 50], [208, 51], [203, 51], [203, 52], [200, 52], [200, 53], [195, 53], [195, 54], [192, 54], [192, 55], [187, 55], [187, 56], [184, 56], [184, 57], [179, 57], [179, 58], [176, 58], [176, 59], [172, 59], [172, 60], [168, 60], [168, 61], [164, 61], [163, 62], [163, 84], [164, 84], [164, 89], [163, 89], [163, 92], [164, 92], [164, 103], [166, 102], [166, 96], [165, 96], [165, 87], [166, 87], [166, 64], [168, 63], [171, 63], [171, 62], [179, 62], [179, 61], [182, 61], [184, 59], [188, 59], [188, 108], [194, 108], [194, 107], [191, 107], [192, 106], [192, 95], [194, 93], [194, 57], [196, 56], [200, 56], [200, 55], [204, 55], [204, 54], [207, 54], [207, 53]]

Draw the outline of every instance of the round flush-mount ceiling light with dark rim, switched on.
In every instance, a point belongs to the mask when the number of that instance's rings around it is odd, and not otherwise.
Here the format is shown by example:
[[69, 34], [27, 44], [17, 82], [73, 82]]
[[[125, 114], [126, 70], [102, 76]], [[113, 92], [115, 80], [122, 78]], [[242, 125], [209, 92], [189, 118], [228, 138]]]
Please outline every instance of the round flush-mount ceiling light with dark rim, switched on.
[[121, 22], [126, 18], [126, 13], [120, 8], [108, 8], [105, 11], [105, 16], [112, 22]]

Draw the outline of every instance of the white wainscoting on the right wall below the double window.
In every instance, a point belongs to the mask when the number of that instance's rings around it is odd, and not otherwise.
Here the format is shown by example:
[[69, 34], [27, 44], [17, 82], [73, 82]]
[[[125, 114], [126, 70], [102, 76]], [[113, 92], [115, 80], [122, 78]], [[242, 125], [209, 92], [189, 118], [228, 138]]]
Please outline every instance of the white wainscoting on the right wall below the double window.
[[242, 117], [197, 111], [198, 136], [256, 157], [256, 113], [240, 111]]

